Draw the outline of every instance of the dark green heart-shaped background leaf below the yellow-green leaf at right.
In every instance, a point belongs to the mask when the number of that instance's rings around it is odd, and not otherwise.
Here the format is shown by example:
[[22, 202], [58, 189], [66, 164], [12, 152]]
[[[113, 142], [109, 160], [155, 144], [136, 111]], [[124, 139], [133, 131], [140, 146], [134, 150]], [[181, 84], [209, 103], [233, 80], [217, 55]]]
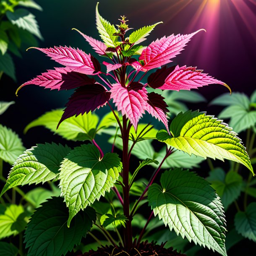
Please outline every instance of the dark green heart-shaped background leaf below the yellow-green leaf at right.
[[216, 168], [210, 172], [206, 180], [212, 183], [212, 187], [220, 197], [225, 210], [240, 196], [243, 178], [237, 172], [229, 171], [226, 175], [224, 170]]

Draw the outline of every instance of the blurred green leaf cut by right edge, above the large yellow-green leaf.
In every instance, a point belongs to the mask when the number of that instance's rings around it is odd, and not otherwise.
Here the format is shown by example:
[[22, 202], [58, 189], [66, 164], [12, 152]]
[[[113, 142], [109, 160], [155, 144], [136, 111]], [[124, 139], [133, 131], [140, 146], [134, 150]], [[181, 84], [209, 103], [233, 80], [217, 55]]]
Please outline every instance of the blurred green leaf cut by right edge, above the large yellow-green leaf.
[[229, 125], [238, 133], [255, 126], [256, 111], [248, 111], [242, 105], [231, 105], [219, 113], [219, 118], [230, 118]]

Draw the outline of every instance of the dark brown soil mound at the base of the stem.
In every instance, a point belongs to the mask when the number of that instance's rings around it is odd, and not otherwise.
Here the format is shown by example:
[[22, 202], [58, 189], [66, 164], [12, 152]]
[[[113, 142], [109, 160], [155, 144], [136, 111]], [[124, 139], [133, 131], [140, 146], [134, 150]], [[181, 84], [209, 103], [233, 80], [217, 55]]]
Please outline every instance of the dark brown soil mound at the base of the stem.
[[125, 251], [123, 248], [106, 246], [98, 248], [97, 251], [89, 251], [79, 256], [185, 256], [173, 248], [164, 248], [165, 244], [157, 245], [156, 243], [143, 242], [139, 247]]

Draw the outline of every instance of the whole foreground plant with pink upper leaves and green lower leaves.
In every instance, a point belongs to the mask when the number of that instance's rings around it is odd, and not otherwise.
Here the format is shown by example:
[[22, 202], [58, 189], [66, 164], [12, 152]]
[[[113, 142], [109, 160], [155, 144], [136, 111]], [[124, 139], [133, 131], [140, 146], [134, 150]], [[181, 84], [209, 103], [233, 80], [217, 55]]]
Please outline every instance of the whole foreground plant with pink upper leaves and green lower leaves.
[[[76, 89], [63, 113], [61, 110], [48, 112], [26, 130], [45, 125], [65, 138], [90, 142], [74, 149], [54, 143], [39, 144], [21, 154], [13, 164], [1, 195], [17, 185], [50, 180], [58, 181], [61, 188], [61, 196], [44, 202], [27, 225], [28, 255], [65, 254], [79, 244], [87, 232], [102, 245], [91, 233], [95, 229], [104, 234], [114, 250], [117, 248], [115, 253], [120, 249], [120, 253], [136, 254], [152, 217], [158, 216], [155, 223], [163, 222], [182, 238], [225, 256], [224, 210], [210, 183], [182, 168], [163, 170], [174, 167], [171, 158], [167, 164], [166, 160], [176, 154], [180, 157], [179, 167], [184, 166], [185, 159], [189, 162], [191, 158], [193, 162], [198, 156], [199, 162], [206, 157], [229, 159], [245, 165], [253, 173], [246, 149], [232, 128], [205, 112], [180, 112], [169, 128], [168, 105], [162, 95], [154, 92], [154, 89], [190, 90], [209, 84], [229, 88], [194, 67], [166, 66], [200, 30], [164, 36], [143, 47], [139, 44], [159, 23], [144, 26], [125, 37], [129, 30], [125, 17], [116, 29], [96, 8], [96, 24], [103, 42], [78, 32], [99, 56], [108, 59], [102, 62], [106, 72], [95, 57], [82, 50], [66, 46], [36, 48], [65, 67], [48, 70], [20, 86]], [[142, 83], [144, 76], [155, 68], [147, 83]], [[111, 111], [98, 124], [98, 117], [92, 111], [105, 105]], [[165, 129], [157, 131], [152, 125], [139, 123], [145, 112], [161, 121]], [[95, 136], [107, 133], [110, 127], [115, 127], [114, 133], [110, 132], [112, 152], [105, 153]], [[165, 145], [159, 161], [153, 155], [146, 157], [151, 146], [149, 139]], [[122, 149], [121, 155], [113, 152], [115, 146]], [[134, 169], [131, 154], [145, 156]], [[156, 166], [151, 178], [138, 180], [138, 173], [148, 165]], [[157, 178], [159, 183], [155, 183]], [[132, 201], [131, 195], [138, 197]], [[107, 210], [102, 200], [98, 202], [102, 197], [110, 203]], [[133, 228], [138, 225], [136, 214], [145, 203], [149, 205], [149, 217], [137, 234]]]

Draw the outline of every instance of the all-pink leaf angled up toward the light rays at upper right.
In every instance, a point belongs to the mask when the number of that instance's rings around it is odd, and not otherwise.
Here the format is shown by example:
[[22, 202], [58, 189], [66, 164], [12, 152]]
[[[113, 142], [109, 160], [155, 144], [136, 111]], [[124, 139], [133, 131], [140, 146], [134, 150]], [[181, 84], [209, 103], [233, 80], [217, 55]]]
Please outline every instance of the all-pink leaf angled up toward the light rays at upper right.
[[203, 29], [188, 35], [178, 34], [174, 36], [172, 34], [169, 37], [157, 39], [142, 51], [139, 60], [143, 61], [144, 64], [133, 63], [133, 66], [137, 65], [138, 68], [139, 65], [141, 65], [141, 71], [148, 71], [152, 68], [159, 68], [162, 65], [172, 62], [170, 59], [178, 55], [183, 50], [183, 47], [190, 41], [191, 37], [201, 30]]

